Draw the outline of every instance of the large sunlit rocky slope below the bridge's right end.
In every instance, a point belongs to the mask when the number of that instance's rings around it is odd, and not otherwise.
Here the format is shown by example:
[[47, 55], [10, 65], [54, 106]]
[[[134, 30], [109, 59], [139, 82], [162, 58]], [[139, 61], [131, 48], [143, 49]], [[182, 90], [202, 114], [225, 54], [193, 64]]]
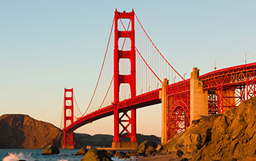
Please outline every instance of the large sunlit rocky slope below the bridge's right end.
[[244, 159], [256, 154], [256, 98], [238, 108], [192, 122], [167, 141], [164, 149], [192, 160]]

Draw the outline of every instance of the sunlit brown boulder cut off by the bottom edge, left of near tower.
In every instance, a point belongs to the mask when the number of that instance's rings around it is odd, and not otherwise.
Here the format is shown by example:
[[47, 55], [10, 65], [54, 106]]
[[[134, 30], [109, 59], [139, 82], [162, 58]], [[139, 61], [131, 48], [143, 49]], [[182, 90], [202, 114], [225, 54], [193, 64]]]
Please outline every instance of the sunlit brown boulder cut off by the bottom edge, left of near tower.
[[105, 151], [91, 149], [85, 154], [81, 161], [111, 161], [111, 157]]

